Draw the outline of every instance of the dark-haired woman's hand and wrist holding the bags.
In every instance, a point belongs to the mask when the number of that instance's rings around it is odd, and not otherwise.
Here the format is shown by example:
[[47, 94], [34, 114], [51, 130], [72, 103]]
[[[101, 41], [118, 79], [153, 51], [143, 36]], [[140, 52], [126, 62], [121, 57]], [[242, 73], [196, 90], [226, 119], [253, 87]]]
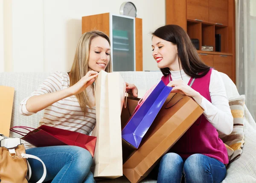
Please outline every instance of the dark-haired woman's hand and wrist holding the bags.
[[167, 84], [168, 87], [173, 87], [171, 93], [180, 93], [186, 96], [190, 96], [193, 99], [195, 99], [195, 102], [198, 104], [202, 103], [202, 96], [199, 92], [192, 89], [189, 85], [184, 83], [183, 80], [178, 81], [170, 81], [169, 84]]

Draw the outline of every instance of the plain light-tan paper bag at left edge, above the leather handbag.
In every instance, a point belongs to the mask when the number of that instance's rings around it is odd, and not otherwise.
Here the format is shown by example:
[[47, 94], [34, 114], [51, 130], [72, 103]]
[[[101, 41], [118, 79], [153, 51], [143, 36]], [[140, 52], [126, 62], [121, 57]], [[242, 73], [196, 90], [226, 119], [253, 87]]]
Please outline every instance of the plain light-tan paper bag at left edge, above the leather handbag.
[[0, 134], [9, 137], [14, 87], [0, 86]]

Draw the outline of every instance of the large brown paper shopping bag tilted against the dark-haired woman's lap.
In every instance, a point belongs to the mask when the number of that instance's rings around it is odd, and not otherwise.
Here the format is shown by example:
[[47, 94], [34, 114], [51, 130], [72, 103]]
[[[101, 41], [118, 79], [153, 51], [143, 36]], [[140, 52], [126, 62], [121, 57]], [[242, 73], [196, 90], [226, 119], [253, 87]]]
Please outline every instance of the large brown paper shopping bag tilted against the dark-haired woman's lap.
[[[130, 101], [127, 102], [129, 105]], [[128, 107], [125, 110], [127, 113]], [[122, 113], [125, 114], [125, 110]], [[131, 183], [143, 180], [158, 163], [160, 157], [172, 148], [203, 112], [204, 110], [190, 97], [170, 93], [145, 134], [139, 149], [133, 151], [126, 161], [124, 160], [125, 177]], [[125, 116], [122, 116], [122, 119], [125, 119]], [[126, 149], [124, 146], [123, 151], [129, 151], [129, 148]]]

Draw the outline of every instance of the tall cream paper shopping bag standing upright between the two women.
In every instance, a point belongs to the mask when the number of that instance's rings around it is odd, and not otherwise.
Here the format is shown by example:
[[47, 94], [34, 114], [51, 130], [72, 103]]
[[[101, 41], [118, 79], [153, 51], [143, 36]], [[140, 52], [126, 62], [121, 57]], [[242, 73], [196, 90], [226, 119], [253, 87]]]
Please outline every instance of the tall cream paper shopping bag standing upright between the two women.
[[94, 177], [116, 178], [122, 176], [121, 111], [125, 84], [119, 73], [101, 71], [96, 79], [97, 137], [93, 157]]

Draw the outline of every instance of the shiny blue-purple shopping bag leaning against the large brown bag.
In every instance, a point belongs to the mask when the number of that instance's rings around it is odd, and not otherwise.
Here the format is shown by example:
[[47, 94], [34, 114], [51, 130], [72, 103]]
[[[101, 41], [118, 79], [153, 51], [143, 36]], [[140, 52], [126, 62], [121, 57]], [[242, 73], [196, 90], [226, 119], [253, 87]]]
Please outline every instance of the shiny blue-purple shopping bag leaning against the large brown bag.
[[122, 139], [134, 148], [138, 148], [142, 138], [172, 91], [160, 81], [122, 129]]

